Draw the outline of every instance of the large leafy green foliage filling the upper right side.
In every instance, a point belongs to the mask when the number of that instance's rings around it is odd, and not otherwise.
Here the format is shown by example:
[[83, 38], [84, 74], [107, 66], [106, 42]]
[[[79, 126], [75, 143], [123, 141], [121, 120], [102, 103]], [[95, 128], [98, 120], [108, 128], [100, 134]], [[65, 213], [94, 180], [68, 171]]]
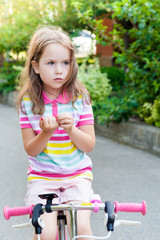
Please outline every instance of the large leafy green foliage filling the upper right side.
[[[88, 7], [89, 2], [92, 8]], [[102, 118], [106, 121], [122, 121], [131, 116], [139, 116], [146, 121], [145, 106], [150, 104], [148, 117], [152, 121], [146, 122], [154, 125], [153, 109], [159, 113], [160, 108], [160, 1], [119, 0], [96, 3], [89, 0], [86, 3], [84, 0], [72, 0], [72, 4], [81, 21], [96, 34], [97, 40], [104, 45], [113, 45], [115, 64], [125, 71], [121, 89], [106, 99], [105, 106], [104, 103], [98, 103], [103, 106]], [[106, 27], [103, 26], [105, 15], [114, 22], [110, 36], [106, 36]], [[158, 115], [156, 114], [156, 126], [160, 125]]]

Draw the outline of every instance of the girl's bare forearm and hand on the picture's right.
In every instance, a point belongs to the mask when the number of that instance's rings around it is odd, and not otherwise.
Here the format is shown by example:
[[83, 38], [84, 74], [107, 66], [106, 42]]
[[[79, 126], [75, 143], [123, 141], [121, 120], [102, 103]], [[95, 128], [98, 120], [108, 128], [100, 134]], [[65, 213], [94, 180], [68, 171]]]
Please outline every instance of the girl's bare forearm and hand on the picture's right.
[[78, 149], [83, 152], [91, 152], [93, 150], [95, 145], [94, 125], [83, 125], [76, 128], [73, 125], [73, 117], [69, 113], [59, 114], [57, 121]]

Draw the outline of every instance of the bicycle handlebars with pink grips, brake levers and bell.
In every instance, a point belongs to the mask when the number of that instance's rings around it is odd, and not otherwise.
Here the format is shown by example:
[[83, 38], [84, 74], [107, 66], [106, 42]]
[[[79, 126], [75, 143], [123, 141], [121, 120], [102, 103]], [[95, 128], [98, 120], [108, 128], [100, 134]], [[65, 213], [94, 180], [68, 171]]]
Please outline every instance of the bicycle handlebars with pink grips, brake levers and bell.
[[[138, 221], [128, 221], [128, 220], [116, 220], [117, 212], [141, 212], [142, 215], [146, 214], [146, 203], [118, 203], [117, 201], [106, 201], [101, 202], [100, 196], [94, 194], [90, 203], [81, 203], [81, 204], [52, 204], [52, 200], [58, 196], [55, 193], [48, 193], [39, 195], [40, 198], [46, 199], [46, 204], [36, 204], [29, 207], [16, 207], [9, 208], [8, 206], [4, 207], [4, 218], [6, 220], [10, 219], [11, 216], [22, 216], [30, 215], [30, 223], [15, 225], [14, 227], [27, 227], [33, 225], [35, 228], [35, 234], [38, 235], [38, 240], [40, 240], [40, 234], [44, 227], [44, 223], [40, 216], [44, 213], [51, 213], [52, 211], [57, 211], [57, 223], [58, 223], [58, 234], [57, 240], [66, 240], [66, 215], [65, 211], [69, 212], [70, 216], [70, 240], [77, 238], [94, 238], [94, 239], [107, 239], [111, 236], [111, 233], [114, 231], [114, 228], [123, 224], [123, 225], [140, 225]], [[97, 236], [77, 236], [77, 211], [78, 210], [92, 210], [97, 213], [99, 210], [104, 210], [105, 212], [105, 225], [108, 230], [108, 234], [103, 237]]]

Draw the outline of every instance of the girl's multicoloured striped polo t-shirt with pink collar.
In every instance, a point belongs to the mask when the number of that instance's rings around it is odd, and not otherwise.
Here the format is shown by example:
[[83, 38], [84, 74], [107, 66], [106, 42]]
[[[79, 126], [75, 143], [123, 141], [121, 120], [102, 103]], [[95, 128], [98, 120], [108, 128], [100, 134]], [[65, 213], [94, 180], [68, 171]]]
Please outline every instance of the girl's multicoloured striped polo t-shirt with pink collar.
[[[73, 116], [74, 126], [94, 124], [91, 105], [85, 104], [80, 95], [74, 107], [65, 95], [51, 100], [43, 92], [45, 111], [43, 117], [56, 116], [68, 112]], [[32, 128], [36, 134], [41, 129], [39, 121], [42, 116], [34, 115], [31, 111], [32, 102], [29, 95], [22, 100], [22, 108], [25, 114], [20, 111], [19, 122], [21, 128]], [[58, 180], [74, 177], [85, 177], [92, 180], [92, 162], [86, 153], [79, 150], [68, 134], [59, 127], [48, 141], [46, 148], [36, 157], [28, 157], [28, 181], [36, 180]]]

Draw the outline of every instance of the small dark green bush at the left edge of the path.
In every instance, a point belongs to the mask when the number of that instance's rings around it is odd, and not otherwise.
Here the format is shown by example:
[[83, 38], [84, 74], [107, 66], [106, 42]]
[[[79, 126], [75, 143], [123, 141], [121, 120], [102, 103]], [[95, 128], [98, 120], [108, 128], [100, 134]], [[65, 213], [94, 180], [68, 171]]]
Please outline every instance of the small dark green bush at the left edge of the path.
[[18, 75], [23, 68], [19, 64], [19, 62], [5, 62], [4, 66], [0, 68], [0, 92], [6, 94], [10, 91], [16, 90]]

